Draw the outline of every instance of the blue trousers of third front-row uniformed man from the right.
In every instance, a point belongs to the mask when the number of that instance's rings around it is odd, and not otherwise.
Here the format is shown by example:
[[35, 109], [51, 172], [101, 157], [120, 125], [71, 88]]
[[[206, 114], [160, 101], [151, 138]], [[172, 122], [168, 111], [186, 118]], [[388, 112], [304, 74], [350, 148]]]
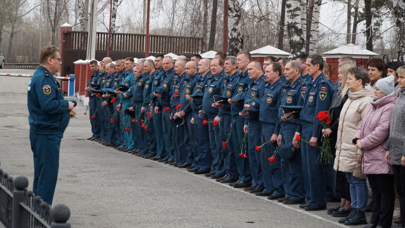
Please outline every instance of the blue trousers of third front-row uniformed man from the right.
[[[274, 132], [274, 124], [262, 123], [262, 143], [265, 143], [271, 139]], [[261, 145], [260, 144], [260, 145]], [[279, 196], [284, 195], [284, 187], [282, 186], [281, 175], [281, 163], [278, 153], [274, 156], [275, 162], [269, 162], [268, 158], [271, 158], [277, 147], [277, 143], [267, 143], [262, 147], [260, 151], [259, 159], [260, 165], [263, 171], [263, 184], [264, 193], [277, 194]]]

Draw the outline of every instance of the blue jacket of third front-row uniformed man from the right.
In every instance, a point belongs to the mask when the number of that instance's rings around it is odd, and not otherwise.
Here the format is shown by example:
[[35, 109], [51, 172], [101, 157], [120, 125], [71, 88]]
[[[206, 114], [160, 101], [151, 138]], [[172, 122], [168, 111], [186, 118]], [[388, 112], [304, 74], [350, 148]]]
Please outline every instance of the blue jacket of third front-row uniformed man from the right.
[[284, 85], [277, 80], [273, 84], [266, 84], [264, 94], [260, 99], [259, 120], [267, 124], [274, 124], [274, 132], [279, 132], [280, 121], [278, 116], [278, 108], [281, 104], [282, 89]]

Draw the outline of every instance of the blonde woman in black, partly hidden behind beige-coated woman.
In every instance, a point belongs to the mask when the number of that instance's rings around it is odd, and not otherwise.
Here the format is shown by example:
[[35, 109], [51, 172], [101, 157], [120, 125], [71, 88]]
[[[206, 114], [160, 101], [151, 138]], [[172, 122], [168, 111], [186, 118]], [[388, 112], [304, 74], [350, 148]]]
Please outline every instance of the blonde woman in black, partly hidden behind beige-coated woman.
[[[354, 65], [351, 63], [343, 63], [339, 66], [338, 75], [338, 88], [336, 89], [331, 107], [329, 108], [329, 115], [331, 117], [331, 124], [329, 128], [322, 130], [323, 135], [331, 138], [331, 150], [332, 155], [336, 154], [336, 139], [338, 137], [339, 116], [342, 111], [342, 107], [348, 98], [349, 89], [347, 87], [347, 70]], [[336, 184], [340, 186], [341, 201], [340, 205], [334, 208], [328, 209], [328, 214], [332, 214], [334, 217], [345, 217], [350, 213], [350, 189], [349, 182], [347, 182], [346, 175], [343, 172], [337, 171]]]

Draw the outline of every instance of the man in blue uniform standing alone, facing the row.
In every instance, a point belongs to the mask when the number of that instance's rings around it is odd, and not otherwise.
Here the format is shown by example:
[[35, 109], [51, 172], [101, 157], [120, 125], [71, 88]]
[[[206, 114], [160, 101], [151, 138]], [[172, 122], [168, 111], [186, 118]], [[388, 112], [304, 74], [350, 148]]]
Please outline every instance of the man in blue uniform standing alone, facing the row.
[[[70, 118], [76, 116], [74, 103], [65, 100], [53, 77], [61, 67], [59, 48], [41, 49], [39, 67], [28, 85], [29, 140], [34, 160], [32, 191], [52, 205], [59, 170], [59, 149]], [[69, 112], [72, 112], [69, 115]]]

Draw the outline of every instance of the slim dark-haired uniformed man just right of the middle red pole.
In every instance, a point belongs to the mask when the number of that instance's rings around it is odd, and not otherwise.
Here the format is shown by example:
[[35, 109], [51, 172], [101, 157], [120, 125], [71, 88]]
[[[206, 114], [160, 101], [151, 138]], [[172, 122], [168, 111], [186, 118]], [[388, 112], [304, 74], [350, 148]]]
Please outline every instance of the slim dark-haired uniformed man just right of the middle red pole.
[[[163, 78], [163, 74], [165, 70], [163, 69], [163, 59], [165, 58], [164, 55], [162, 54], [157, 54], [155, 56], [155, 68], [157, 70], [155, 77], [153, 79], [153, 84], [152, 84], [152, 90], [150, 91], [150, 112], [154, 112], [154, 108], [156, 107], [156, 96], [154, 95], [154, 92], [156, 89], [160, 86], [160, 81]], [[153, 117], [153, 127], [154, 127], [154, 132], [155, 132], [155, 139], [156, 139], [156, 156], [153, 158], [150, 158], [153, 161], [158, 161], [161, 159], [165, 159], [165, 141], [164, 141], [164, 136], [163, 136], [163, 122], [162, 122], [162, 117], [161, 117], [161, 111], [162, 108], [161, 106], [159, 107], [159, 112], [154, 113]]]

